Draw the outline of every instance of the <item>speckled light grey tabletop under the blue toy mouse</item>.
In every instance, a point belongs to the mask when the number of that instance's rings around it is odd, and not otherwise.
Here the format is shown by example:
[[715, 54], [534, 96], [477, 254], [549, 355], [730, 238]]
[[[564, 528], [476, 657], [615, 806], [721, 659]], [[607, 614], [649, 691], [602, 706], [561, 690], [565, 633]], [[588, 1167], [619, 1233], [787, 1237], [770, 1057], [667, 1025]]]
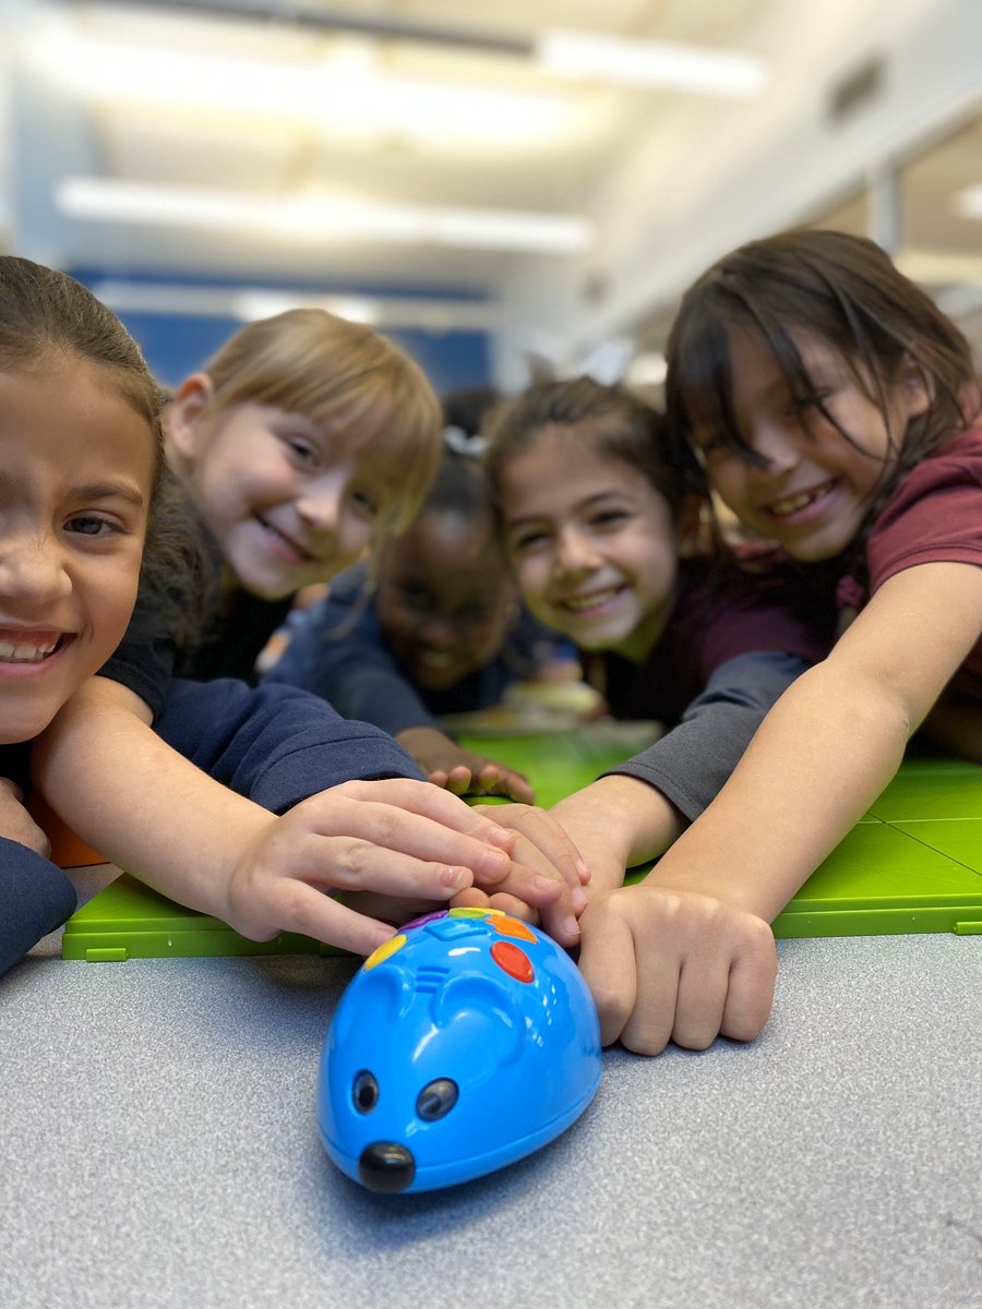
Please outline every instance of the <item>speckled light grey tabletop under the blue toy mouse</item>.
[[982, 940], [780, 945], [753, 1046], [608, 1052], [450, 1191], [323, 1155], [340, 959], [29, 958], [0, 982], [3, 1309], [982, 1309]]

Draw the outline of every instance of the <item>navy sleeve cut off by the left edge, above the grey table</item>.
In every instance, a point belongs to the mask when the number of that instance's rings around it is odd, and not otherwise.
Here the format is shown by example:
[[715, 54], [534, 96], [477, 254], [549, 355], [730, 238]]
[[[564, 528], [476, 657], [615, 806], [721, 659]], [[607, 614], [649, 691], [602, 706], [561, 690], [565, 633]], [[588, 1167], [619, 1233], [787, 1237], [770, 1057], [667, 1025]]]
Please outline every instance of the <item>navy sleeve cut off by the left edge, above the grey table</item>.
[[60, 927], [77, 903], [75, 886], [60, 868], [0, 836], [0, 974]]

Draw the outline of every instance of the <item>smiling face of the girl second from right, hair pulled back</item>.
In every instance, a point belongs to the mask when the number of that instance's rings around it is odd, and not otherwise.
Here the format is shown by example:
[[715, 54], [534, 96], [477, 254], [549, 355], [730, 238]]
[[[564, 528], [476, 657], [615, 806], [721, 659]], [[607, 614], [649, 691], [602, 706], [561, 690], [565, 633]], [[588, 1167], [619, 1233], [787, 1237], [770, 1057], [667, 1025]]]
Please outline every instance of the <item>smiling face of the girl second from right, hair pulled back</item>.
[[505, 543], [526, 605], [581, 649], [642, 662], [676, 600], [668, 501], [573, 431], [543, 428], [500, 479]]

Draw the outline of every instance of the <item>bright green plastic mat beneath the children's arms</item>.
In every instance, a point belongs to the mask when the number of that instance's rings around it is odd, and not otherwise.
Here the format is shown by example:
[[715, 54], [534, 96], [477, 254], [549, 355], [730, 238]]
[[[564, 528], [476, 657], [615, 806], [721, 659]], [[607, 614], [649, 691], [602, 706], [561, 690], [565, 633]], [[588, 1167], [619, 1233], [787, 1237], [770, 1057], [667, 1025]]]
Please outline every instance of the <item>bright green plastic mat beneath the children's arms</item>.
[[[647, 742], [598, 724], [538, 736], [462, 737], [465, 749], [520, 770], [549, 806]], [[640, 874], [635, 874], [640, 876]], [[869, 813], [774, 920], [778, 937], [982, 935], [982, 768], [905, 762]], [[63, 956], [92, 962], [166, 956], [336, 953], [282, 933], [250, 941], [219, 919], [120, 877], [68, 920]]]

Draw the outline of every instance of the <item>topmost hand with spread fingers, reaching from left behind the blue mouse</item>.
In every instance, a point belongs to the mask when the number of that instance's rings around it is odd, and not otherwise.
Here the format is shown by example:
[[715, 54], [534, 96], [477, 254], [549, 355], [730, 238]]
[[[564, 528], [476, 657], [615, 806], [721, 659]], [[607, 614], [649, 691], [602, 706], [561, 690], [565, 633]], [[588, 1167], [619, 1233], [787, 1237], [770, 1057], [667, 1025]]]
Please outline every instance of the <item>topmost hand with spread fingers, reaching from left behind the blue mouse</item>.
[[229, 869], [219, 916], [253, 940], [302, 932], [360, 954], [393, 928], [331, 891], [445, 903], [471, 885], [500, 886], [559, 923], [573, 919], [560, 870], [532, 843], [513, 853], [520, 842], [429, 783], [347, 781], [263, 823]]

